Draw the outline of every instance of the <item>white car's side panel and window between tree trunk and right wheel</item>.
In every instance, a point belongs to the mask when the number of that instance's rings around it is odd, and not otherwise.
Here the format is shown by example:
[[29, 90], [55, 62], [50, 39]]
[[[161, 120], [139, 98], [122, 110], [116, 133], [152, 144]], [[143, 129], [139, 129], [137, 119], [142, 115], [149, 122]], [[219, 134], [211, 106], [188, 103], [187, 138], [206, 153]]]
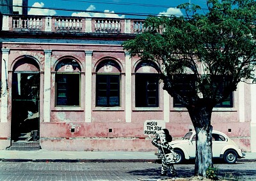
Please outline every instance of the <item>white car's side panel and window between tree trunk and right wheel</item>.
[[227, 140], [224, 136], [212, 133], [212, 157], [220, 157], [220, 152], [225, 145], [227, 145]]

